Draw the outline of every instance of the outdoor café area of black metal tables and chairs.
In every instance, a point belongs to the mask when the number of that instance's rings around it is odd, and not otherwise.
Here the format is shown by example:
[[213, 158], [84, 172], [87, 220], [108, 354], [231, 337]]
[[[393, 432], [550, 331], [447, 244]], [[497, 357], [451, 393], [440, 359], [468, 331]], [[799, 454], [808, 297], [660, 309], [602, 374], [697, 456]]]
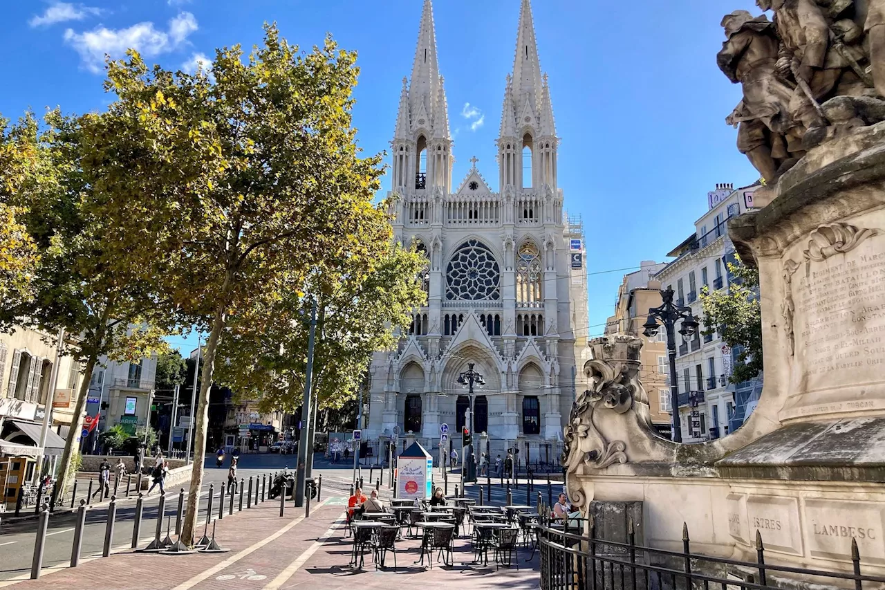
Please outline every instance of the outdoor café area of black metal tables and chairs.
[[[394, 571], [414, 568], [523, 567], [535, 556], [531, 506], [481, 506], [470, 498], [450, 496], [445, 505], [394, 499], [383, 512], [350, 508], [345, 540], [350, 567]], [[371, 560], [371, 561], [370, 561]]]

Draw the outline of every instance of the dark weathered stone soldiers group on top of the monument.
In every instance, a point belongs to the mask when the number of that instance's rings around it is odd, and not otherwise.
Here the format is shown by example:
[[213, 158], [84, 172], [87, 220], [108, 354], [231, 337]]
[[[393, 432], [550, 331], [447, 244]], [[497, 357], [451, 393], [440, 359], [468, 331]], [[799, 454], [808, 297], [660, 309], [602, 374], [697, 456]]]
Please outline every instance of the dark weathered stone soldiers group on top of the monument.
[[728, 14], [717, 60], [743, 85], [727, 118], [740, 125], [738, 149], [771, 183], [805, 151], [885, 120], [885, 0], [756, 4], [773, 21]]

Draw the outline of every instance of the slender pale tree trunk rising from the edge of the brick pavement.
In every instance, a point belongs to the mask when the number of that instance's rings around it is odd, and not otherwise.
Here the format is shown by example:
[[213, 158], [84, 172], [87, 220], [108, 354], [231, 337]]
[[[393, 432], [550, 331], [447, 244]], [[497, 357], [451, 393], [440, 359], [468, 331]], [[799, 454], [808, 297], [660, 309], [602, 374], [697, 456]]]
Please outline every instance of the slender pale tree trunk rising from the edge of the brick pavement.
[[[212, 373], [215, 370], [215, 353], [218, 351], [221, 339], [221, 330], [224, 330], [227, 308], [227, 293], [232, 282], [232, 272], [227, 271], [225, 283], [221, 288], [219, 303], [215, 307], [212, 318], [212, 330], [209, 333], [209, 341], [206, 343], [206, 353], [203, 357], [203, 374], [200, 377], [200, 397], [197, 400], [196, 423], [194, 426], [194, 462], [190, 476], [190, 489], [188, 491], [188, 511], [181, 527], [181, 540], [188, 547], [194, 546], [194, 532], [196, 530], [196, 514], [200, 501], [200, 490], [203, 489], [204, 462], [206, 454], [206, 431], [209, 427], [209, 392], [212, 390]], [[196, 370], [196, 368], [195, 368]]]

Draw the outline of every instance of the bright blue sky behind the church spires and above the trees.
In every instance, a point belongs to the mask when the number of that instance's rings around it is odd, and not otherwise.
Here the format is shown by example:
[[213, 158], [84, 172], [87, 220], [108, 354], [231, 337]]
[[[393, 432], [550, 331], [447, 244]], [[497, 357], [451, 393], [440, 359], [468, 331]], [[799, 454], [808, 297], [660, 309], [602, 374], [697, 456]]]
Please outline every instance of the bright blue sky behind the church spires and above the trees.
[[[262, 24], [275, 20], [292, 43], [308, 47], [329, 32], [342, 47], [358, 50], [354, 123], [361, 146], [382, 151], [393, 136], [401, 80], [412, 70], [421, 4], [0, 0], [0, 54], [7, 56], [0, 61], [0, 113], [17, 118], [28, 107], [42, 113], [56, 105], [68, 113], [101, 109], [111, 100], [102, 89], [105, 51], [119, 57], [135, 43], [149, 62], [189, 68], [216, 47], [259, 43]], [[693, 231], [716, 182], [743, 186], [758, 178], [724, 122], [740, 89], [715, 63], [722, 15], [758, 10], [752, 0], [535, 0], [533, 9], [562, 138], [559, 185], [587, 237], [589, 334], [596, 335], [612, 314], [624, 273], [605, 271], [665, 260]], [[519, 0], [436, 0], [434, 16], [455, 182], [475, 155], [495, 189], [495, 139]], [[196, 337], [173, 343], [189, 350]]]

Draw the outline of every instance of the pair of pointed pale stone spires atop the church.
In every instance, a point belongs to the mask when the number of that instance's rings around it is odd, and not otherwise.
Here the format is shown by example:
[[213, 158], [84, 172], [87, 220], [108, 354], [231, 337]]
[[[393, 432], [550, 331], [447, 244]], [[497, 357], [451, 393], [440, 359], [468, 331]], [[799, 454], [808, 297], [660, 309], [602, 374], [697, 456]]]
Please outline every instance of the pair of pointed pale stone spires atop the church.
[[[508, 184], [519, 186], [520, 182], [523, 187], [533, 186], [522, 178], [521, 151], [525, 145], [529, 145], [533, 152], [543, 145], [550, 151], [552, 145], [555, 152], [558, 143], [550, 89], [538, 60], [531, 5], [529, 0], [521, 2], [516, 57], [512, 76], [507, 76], [498, 139], [502, 190]], [[437, 60], [431, 0], [424, 0], [412, 78], [403, 79], [392, 146], [395, 190], [411, 190], [413, 187], [440, 188], [443, 194], [450, 192], [452, 139], [444, 81]], [[505, 151], [512, 153], [514, 158], [506, 158]], [[555, 186], [555, 181], [551, 181], [550, 175], [543, 174], [543, 170], [539, 170], [538, 175], [533, 171], [532, 176]]]

